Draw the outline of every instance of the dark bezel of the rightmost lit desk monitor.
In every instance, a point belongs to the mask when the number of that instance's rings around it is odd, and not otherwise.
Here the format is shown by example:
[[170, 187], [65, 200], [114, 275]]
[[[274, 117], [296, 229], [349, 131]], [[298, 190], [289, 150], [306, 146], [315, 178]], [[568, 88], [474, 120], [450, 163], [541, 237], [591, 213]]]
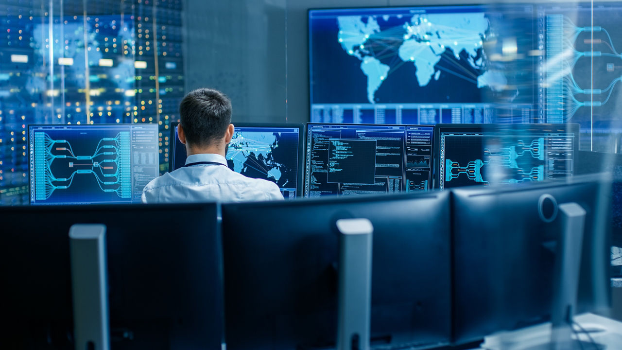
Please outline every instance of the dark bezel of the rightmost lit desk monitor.
[[[554, 126], [564, 126], [565, 132], [575, 134], [575, 143], [573, 144], [573, 156], [576, 162], [577, 152], [579, 150], [580, 143], [580, 125], [577, 123], [517, 123], [517, 124], [499, 124], [499, 123], [478, 123], [478, 124], [452, 124], [452, 123], [439, 123], [434, 128], [434, 160], [432, 161], [432, 188], [439, 189], [440, 186], [440, 133], [444, 128], [458, 129], [463, 132], [486, 132], [486, 129], [495, 131], [498, 128], [516, 128], [517, 131], [521, 130], [537, 130], [546, 131], [547, 128], [553, 128]], [[458, 132], [460, 132], [458, 131]], [[576, 164], [573, 164], [573, 174], [576, 169]]]

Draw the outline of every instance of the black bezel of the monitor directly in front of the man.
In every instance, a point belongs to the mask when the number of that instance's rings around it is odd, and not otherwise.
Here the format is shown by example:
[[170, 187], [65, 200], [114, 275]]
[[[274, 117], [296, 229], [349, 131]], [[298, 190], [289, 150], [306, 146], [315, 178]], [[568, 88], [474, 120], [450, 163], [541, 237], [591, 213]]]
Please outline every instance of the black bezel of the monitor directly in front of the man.
[[[177, 145], [177, 133], [175, 128], [179, 125], [179, 121], [170, 123], [170, 156], [169, 156], [169, 173], [174, 166], [175, 146]], [[305, 125], [303, 123], [234, 123], [231, 124], [235, 128], [297, 128], [298, 137], [298, 164], [297, 164], [297, 179], [296, 179], [296, 197], [302, 197], [302, 185], [304, 183], [304, 164], [305, 164]]]

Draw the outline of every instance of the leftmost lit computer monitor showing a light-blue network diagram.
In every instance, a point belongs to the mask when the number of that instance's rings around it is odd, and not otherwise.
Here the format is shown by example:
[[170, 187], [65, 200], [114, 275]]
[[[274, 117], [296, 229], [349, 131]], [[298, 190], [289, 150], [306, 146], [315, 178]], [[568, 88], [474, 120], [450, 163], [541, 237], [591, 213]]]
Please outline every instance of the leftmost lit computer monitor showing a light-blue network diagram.
[[156, 124], [29, 125], [30, 204], [141, 202], [159, 176]]

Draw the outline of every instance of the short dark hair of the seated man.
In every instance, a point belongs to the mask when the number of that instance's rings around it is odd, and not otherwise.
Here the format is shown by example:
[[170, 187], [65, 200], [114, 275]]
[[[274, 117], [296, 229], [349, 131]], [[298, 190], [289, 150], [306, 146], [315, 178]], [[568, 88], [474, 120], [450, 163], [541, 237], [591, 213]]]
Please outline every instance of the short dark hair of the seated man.
[[183, 98], [179, 115], [186, 142], [209, 146], [223, 138], [231, 124], [231, 100], [218, 90], [200, 88]]

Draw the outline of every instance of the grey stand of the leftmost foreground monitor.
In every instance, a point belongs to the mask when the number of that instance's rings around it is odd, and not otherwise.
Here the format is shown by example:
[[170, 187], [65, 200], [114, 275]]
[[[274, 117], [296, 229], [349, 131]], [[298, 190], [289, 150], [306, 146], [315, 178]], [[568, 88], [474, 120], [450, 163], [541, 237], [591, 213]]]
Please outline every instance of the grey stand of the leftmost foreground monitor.
[[106, 226], [69, 229], [75, 349], [110, 349]]

